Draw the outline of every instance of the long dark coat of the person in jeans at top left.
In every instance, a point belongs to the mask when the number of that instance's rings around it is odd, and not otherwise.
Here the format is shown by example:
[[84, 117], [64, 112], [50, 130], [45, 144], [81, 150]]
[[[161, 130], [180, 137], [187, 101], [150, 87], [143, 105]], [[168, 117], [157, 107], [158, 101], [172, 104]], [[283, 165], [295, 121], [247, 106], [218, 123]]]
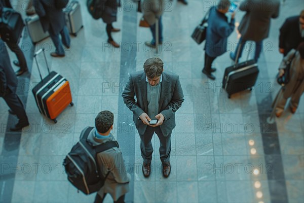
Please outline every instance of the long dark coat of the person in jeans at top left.
[[39, 15], [43, 30], [52, 29], [57, 35], [65, 26], [65, 18], [62, 9], [55, 8], [56, 0], [33, 0], [36, 13]]

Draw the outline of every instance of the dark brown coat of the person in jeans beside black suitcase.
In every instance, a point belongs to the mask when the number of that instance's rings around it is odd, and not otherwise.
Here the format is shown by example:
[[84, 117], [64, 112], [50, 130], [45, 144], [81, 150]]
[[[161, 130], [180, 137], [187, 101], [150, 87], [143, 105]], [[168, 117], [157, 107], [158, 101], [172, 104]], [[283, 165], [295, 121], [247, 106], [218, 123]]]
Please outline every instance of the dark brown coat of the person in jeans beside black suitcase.
[[239, 31], [244, 40], [259, 42], [268, 38], [271, 18], [277, 18], [280, 11], [280, 1], [247, 0], [240, 5], [241, 11], [246, 11]]

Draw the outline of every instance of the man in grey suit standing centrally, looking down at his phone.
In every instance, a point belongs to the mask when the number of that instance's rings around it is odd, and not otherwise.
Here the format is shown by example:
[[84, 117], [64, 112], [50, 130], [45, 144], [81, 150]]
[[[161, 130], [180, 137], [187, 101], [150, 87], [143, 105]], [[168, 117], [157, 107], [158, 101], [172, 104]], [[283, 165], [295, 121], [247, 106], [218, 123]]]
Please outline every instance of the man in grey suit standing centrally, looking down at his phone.
[[[144, 177], [148, 177], [151, 171], [151, 139], [154, 132], [160, 139], [163, 176], [167, 178], [170, 175], [171, 132], [175, 127], [175, 112], [184, 101], [179, 76], [163, 72], [163, 67], [160, 58], [147, 59], [143, 71], [130, 75], [122, 94], [125, 104], [133, 112], [133, 121], [140, 136]], [[153, 120], [157, 123], [152, 124]]]

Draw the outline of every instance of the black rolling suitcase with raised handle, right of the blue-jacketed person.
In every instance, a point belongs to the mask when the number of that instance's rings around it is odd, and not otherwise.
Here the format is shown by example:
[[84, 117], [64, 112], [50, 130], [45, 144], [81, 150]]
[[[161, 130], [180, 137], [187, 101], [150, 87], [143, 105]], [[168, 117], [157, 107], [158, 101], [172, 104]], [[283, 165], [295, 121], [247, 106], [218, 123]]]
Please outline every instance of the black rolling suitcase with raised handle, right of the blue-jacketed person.
[[247, 60], [242, 63], [238, 63], [240, 47], [236, 56], [235, 64], [229, 67], [226, 67], [222, 88], [228, 93], [228, 98], [231, 94], [250, 89], [255, 85], [257, 76], [258, 76], [258, 67], [254, 59]]

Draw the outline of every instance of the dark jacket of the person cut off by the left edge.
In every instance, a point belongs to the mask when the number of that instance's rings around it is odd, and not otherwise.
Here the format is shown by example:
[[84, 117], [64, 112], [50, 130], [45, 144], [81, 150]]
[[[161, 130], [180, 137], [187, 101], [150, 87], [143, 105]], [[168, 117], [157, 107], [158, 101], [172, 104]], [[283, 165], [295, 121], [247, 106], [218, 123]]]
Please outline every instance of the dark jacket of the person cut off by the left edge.
[[11, 65], [10, 56], [6, 49], [5, 43], [0, 39], [0, 68], [5, 72], [6, 86], [16, 93], [18, 87], [18, 79]]

